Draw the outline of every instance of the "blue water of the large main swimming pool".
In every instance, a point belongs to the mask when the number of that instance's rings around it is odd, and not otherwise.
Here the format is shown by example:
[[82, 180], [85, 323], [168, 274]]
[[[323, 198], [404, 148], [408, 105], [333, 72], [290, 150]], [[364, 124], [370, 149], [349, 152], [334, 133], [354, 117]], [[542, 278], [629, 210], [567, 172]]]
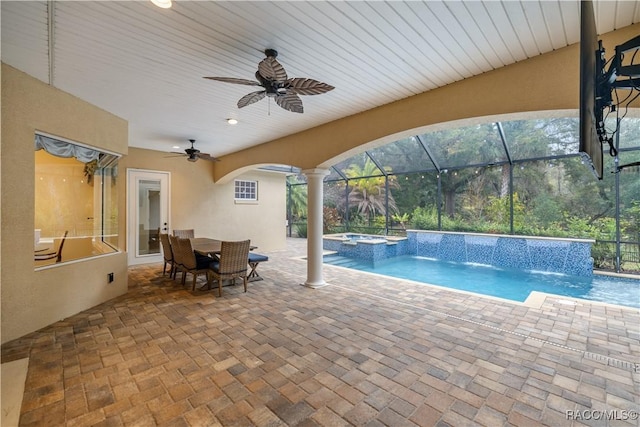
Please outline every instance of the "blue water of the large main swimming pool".
[[525, 272], [404, 255], [372, 265], [338, 255], [326, 264], [524, 302], [532, 291], [640, 308], [640, 280]]

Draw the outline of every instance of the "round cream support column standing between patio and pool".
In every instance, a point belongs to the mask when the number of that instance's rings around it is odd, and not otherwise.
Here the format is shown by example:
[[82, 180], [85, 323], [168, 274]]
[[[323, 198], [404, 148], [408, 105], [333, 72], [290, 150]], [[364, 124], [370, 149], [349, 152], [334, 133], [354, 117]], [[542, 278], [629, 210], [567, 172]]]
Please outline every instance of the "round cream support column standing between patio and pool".
[[302, 171], [307, 177], [307, 281], [304, 286], [319, 288], [326, 283], [322, 278], [322, 205], [323, 180], [327, 169]]

